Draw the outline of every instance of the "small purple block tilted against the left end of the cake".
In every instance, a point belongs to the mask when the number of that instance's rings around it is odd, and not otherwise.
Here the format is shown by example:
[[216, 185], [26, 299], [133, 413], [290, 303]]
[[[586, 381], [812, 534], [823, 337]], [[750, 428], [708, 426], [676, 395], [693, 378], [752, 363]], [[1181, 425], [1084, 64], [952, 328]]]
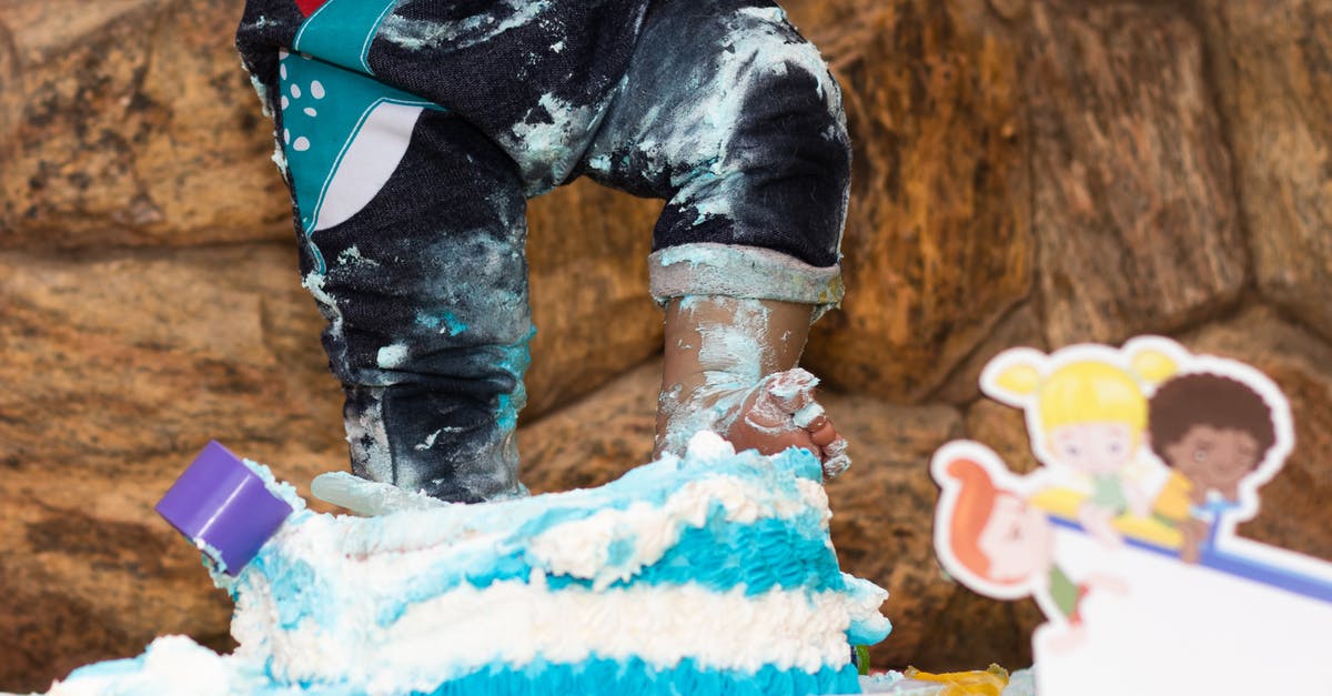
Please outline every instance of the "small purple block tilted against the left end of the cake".
[[157, 513], [236, 576], [282, 525], [292, 505], [240, 457], [210, 441], [157, 503]]

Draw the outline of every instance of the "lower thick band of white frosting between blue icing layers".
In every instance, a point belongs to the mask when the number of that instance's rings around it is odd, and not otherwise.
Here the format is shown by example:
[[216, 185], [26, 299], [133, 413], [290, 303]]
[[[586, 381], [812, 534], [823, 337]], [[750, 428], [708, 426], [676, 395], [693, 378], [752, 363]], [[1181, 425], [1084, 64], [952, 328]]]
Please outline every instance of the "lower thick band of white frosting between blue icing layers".
[[[781, 589], [746, 597], [743, 587], [721, 593], [694, 584], [550, 591], [534, 573], [529, 583], [464, 584], [413, 604], [388, 627], [354, 607], [332, 629], [308, 619], [273, 635], [270, 668], [282, 680], [346, 680], [369, 693], [430, 691], [486, 664], [521, 668], [537, 656], [639, 657], [658, 667], [694, 657], [715, 669], [815, 672], [848, 661], [847, 627], [878, 613], [884, 597]], [[346, 621], [361, 629], [349, 635]]]

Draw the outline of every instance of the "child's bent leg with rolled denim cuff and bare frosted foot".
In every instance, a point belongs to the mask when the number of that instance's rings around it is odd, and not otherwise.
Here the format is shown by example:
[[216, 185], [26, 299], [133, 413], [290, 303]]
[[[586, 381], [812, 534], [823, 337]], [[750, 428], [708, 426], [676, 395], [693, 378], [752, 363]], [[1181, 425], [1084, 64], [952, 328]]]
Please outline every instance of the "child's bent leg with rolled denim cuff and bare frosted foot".
[[844, 467], [844, 441], [810, 405], [813, 377], [791, 371], [842, 291], [850, 147], [818, 51], [766, 3], [654, 3], [583, 163], [667, 199], [650, 261], [667, 307], [658, 451], [711, 428]]

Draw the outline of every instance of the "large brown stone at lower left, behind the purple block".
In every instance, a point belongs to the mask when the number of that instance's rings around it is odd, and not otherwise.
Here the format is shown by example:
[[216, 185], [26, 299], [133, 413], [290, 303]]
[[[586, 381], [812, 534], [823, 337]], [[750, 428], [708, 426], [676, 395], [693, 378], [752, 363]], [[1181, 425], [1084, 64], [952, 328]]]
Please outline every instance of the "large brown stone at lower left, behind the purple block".
[[210, 437], [298, 484], [345, 465], [293, 264], [280, 244], [0, 255], [0, 685], [160, 633], [225, 647], [229, 603], [152, 507]]

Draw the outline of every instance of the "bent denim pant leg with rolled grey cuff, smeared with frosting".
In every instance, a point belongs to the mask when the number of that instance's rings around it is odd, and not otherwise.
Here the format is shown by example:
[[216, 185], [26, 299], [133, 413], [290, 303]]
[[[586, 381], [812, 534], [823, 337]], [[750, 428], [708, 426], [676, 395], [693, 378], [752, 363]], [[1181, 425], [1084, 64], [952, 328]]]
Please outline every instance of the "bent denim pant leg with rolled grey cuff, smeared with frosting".
[[653, 235], [658, 301], [842, 297], [851, 151], [818, 49], [765, 0], [653, 3], [579, 173], [667, 199]]

